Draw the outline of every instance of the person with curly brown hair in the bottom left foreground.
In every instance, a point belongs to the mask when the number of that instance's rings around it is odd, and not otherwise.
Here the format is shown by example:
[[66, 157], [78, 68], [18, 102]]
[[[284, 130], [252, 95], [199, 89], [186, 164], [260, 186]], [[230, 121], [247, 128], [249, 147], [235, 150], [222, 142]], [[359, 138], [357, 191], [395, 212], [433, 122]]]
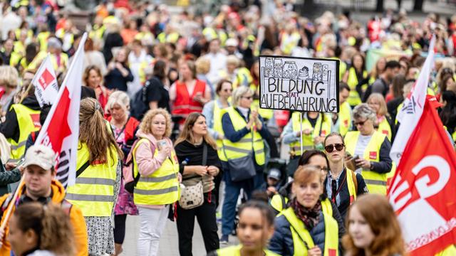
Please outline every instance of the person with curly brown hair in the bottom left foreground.
[[14, 255], [75, 255], [73, 228], [64, 210], [48, 203], [24, 203], [9, 220]]

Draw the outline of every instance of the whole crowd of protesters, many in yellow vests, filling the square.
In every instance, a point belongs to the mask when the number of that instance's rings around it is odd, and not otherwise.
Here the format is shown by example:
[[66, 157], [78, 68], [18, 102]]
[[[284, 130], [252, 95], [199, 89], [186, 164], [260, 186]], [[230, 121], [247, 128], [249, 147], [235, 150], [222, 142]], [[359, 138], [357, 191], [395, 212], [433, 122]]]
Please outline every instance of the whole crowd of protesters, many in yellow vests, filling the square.
[[[0, 255], [120, 255], [128, 215], [137, 255], [158, 255], [167, 219], [192, 255], [195, 218], [208, 255], [405, 255], [385, 198], [397, 114], [434, 50], [427, 94], [454, 145], [456, 16], [363, 24], [310, 20], [291, 1], [172, 14], [109, 0], [81, 27], [58, 3], [0, 4]], [[77, 178], [64, 188], [53, 151], [33, 145], [50, 106], [31, 80], [50, 56], [61, 86], [85, 31]], [[338, 60], [340, 111], [259, 108], [259, 55]], [[239, 245], [220, 249], [230, 235]]]

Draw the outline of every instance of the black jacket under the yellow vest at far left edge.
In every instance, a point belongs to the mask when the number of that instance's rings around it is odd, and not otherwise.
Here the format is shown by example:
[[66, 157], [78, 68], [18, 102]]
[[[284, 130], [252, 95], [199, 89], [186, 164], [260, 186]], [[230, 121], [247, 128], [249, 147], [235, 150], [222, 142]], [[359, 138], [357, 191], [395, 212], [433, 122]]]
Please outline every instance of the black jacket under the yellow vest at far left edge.
[[[21, 104], [31, 108], [32, 110], [41, 109], [35, 95], [26, 97]], [[6, 112], [5, 122], [0, 124], [0, 132], [5, 135], [6, 139], [13, 139], [15, 142], [18, 142], [20, 131], [14, 109], [10, 108], [8, 112]]]

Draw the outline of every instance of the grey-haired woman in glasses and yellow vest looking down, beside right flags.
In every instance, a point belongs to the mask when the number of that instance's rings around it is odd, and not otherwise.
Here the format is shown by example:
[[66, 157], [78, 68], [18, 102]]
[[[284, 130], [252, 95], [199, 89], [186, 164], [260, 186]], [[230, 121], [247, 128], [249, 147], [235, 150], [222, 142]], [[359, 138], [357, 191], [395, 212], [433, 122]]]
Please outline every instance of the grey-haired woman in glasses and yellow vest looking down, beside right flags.
[[387, 174], [392, 166], [390, 141], [385, 134], [375, 131], [377, 115], [366, 103], [353, 109], [353, 120], [358, 131], [346, 134], [346, 151], [353, 156], [356, 172], [363, 176], [369, 192], [386, 195]]

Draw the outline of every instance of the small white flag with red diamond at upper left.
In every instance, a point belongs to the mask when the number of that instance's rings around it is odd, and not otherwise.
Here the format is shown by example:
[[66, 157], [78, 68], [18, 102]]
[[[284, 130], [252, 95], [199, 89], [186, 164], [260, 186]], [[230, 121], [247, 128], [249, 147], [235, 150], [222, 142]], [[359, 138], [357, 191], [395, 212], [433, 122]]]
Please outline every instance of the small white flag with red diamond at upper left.
[[56, 72], [51, 63], [49, 55], [41, 63], [36, 71], [31, 84], [35, 86], [36, 100], [41, 107], [45, 104], [52, 105], [58, 97], [58, 85]]

